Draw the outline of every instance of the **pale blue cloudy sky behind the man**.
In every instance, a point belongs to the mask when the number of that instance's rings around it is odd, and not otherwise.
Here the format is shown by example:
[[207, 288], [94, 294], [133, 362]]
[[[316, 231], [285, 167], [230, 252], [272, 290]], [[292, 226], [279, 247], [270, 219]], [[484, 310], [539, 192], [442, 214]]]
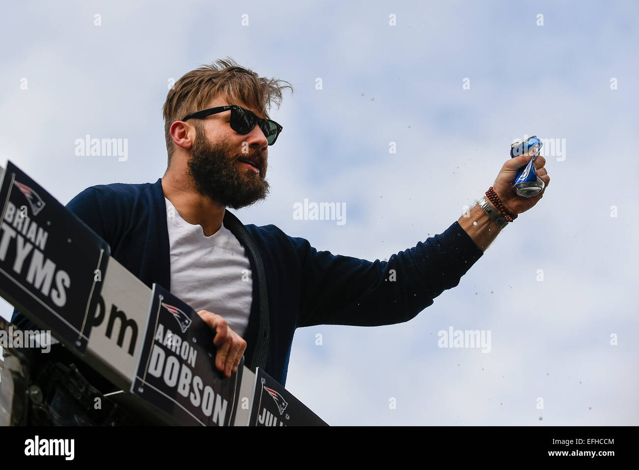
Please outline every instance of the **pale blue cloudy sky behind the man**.
[[[514, 139], [552, 139], [543, 200], [458, 286], [403, 324], [298, 329], [286, 388], [330, 425], [638, 425], [638, 18], [633, 1], [10, 3], [0, 165], [64, 204], [155, 182], [171, 82], [230, 56], [294, 89], [270, 111], [270, 195], [234, 214], [374, 261], [457, 221]], [[127, 139], [126, 159], [76, 155], [87, 134]], [[305, 199], [345, 222], [296, 219]], [[439, 347], [451, 327], [490, 351]]]

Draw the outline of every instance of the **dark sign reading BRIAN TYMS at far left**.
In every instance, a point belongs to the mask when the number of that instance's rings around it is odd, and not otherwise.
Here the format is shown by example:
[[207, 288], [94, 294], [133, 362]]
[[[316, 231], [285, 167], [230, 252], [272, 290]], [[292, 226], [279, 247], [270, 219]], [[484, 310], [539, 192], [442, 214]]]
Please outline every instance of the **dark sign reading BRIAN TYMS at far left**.
[[0, 294], [84, 354], [109, 245], [12, 162], [0, 204]]

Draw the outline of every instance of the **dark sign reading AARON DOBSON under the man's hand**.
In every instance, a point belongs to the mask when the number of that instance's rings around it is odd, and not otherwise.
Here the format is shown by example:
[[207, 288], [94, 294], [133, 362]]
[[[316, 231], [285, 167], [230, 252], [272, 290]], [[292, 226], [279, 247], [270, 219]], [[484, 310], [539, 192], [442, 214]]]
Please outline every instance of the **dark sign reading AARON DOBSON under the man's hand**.
[[153, 284], [153, 302], [131, 392], [180, 425], [235, 422], [244, 359], [228, 379], [215, 368], [215, 332], [194, 309]]

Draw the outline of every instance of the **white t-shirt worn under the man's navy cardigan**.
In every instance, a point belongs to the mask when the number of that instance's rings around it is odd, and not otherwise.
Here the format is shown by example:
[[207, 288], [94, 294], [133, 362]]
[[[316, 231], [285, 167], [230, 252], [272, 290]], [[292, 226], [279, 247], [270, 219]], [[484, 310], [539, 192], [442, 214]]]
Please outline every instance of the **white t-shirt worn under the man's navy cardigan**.
[[166, 200], [171, 247], [171, 293], [195, 311], [221, 315], [244, 337], [253, 300], [250, 261], [245, 249], [224, 224], [210, 237], [201, 225], [180, 217]]

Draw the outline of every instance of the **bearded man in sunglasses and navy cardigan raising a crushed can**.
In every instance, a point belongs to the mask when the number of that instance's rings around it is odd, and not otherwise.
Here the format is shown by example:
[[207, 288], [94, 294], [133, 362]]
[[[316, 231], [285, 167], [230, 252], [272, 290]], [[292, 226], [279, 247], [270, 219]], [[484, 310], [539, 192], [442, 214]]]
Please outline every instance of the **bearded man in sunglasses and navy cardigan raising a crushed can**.
[[[282, 385], [296, 327], [406, 322], [458, 285], [500, 231], [475, 205], [441, 235], [388, 262], [369, 262], [318, 252], [274, 225], [243, 225], [226, 208], [268, 194], [268, 146], [282, 128], [266, 107], [279, 106], [284, 88], [291, 87], [231, 60], [192, 70], [164, 104], [164, 176], [155, 184], [89, 187], [67, 206], [146, 285], [156, 282], [196, 309], [217, 333], [215, 364], [227, 377], [244, 354], [250, 368], [264, 368]], [[512, 191], [529, 159], [502, 166], [495, 214], [520, 214], [543, 197]], [[548, 187], [544, 164], [537, 157]], [[24, 323], [20, 317], [14, 322]]]

